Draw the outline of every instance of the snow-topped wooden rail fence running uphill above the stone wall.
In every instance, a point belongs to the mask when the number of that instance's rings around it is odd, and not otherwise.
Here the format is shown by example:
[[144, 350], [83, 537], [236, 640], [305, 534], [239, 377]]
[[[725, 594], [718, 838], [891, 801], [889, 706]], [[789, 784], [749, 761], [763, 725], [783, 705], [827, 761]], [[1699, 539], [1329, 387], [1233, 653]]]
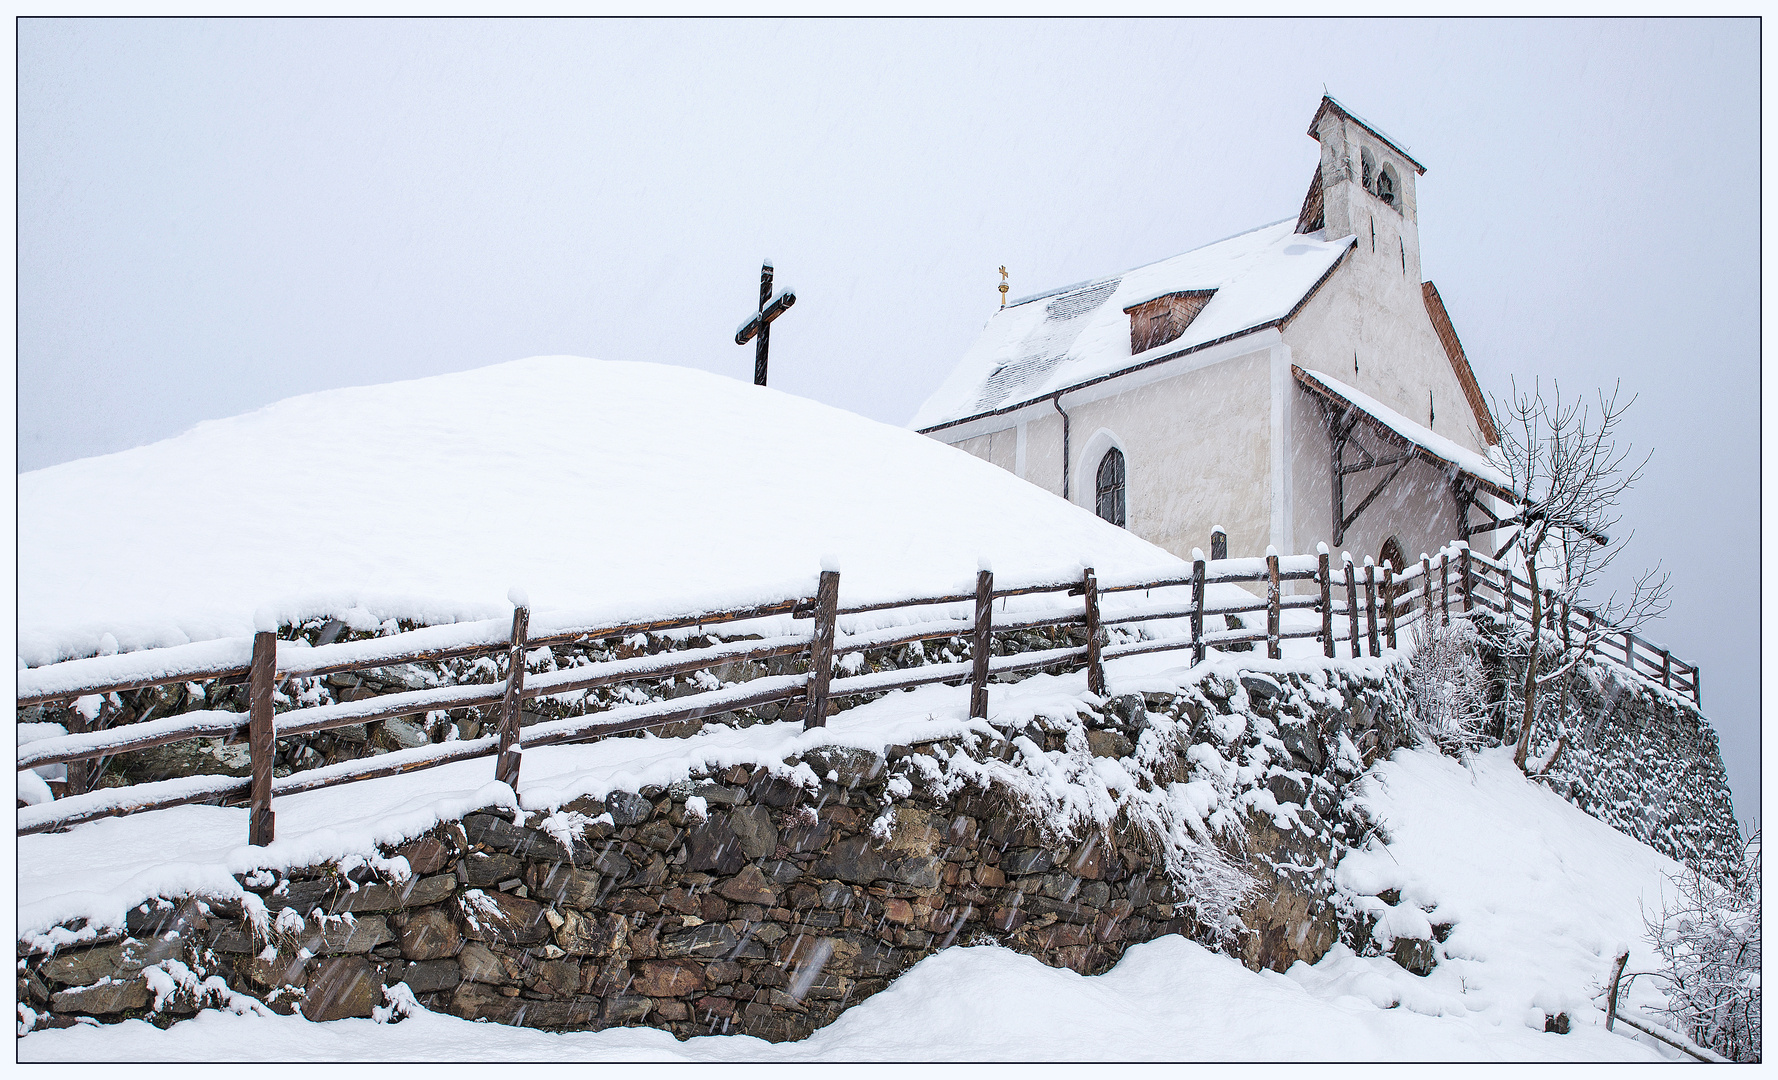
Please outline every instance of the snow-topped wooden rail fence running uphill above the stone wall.
[[[1453, 605], [1472, 612], [1476, 605], [1504, 617], [1529, 614], [1529, 582], [1515, 576], [1501, 562], [1469, 550], [1458, 543], [1438, 552], [1437, 559], [1422, 555], [1414, 566], [1382, 568], [1366, 560], [1353, 562], [1341, 555], [1339, 573], [1334, 571], [1323, 544], [1317, 555], [1280, 557], [1268, 550], [1264, 559], [1205, 560], [1193, 553], [1189, 575], [1163, 578], [1136, 578], [1120, 575], [1099, 580], [1092, 568], [1076, 580], [1026, 582], [996, 587], [994, 573], [976, 575], [973, 592], [919, 596], [880, 603], [839, 607], [839, 571], [821, 571], [814, 596], [795, 596], [768, 605], [713, 612], [679, 612], [656, 619], [626, 621], [621, 625], [564, 625], [548, 626], [542, 633], [530, 632], [530, 609], [514, 607], [510, 628], [503, 621], [462, 623], [450, 626], [423, 626], [405, 633], [302, 648], [299, 642], [279, 642], [274, 632], [252, 639], [197, 642], [169, 649], [144, 649], [114, 657], [68, 660], [39, 669], [20, 671], [18, 705], [68, 703], [76, 697], [137, 690], [176, 681], [219, 680], [247, 683], [249, 708], [238, 712], [190, 712], [158, 721], [73, 731], [69, 735], [28, 742], [18, 751], [18, 769], [43, 765], [76, 765], [94, 758], [148, 749], [188, 738], [247, 737], [251, 776], [188, 776], [167, 781], [139, 783], [94, 792], [71, 792], [68, 797], [27, 806], [18, 811], [18, 831], [43, 833], [62, 829], [100, 817], [121, 817], [144, 810], [160, 810], [185, 802], [213, 802], [245, 799], [249, 813], [249, 843], [272, 842], [272, 799], [324, 786], [375, 779], [420, 769], [432, 769], [468, 758], [496, 758], [494, 778], [517, 788], [521, 749], [525, 746], [551, 746], [562, 742], [589, 742], [676, 724], [711, 713], [754, 708], [766, 703], [802, 703], [804, 726], [827, 722], [829, 701], [859, 694], [880, 694], [930, 683], [969, 681], [969, 715], [987, 715], [987, 683], [994, 674], [1040, 671], [1054, 667], [1086, 667], [1088, 687], [1104, 694], [1104, 660], [1191, 649], [1193, 662], [1202, 662], [1209, 646], [1234, 642], [1266, 642], [1266, 655], [1280, 658], [1280, 642], [1287, 639], [1317, 639], [1326, 657], [1337, 655], [1337, 642], [1348, 642], [1348, 657], [1376, 657], [1383, 648], [1396, 648], [1398, 633], [1435, 614], [1451, 621]], [[1319, 591], [1285, 596], [1285, 582], [1314, 582]], [[1264, 598], [1214, 601], [1205, 596], [1211, 584], [1264, 584]], [[1113, 603], [1102, 609], [1108, 596], [1125, 592], [1163, 591], [1165, 596], [1145, 596], [1141, 601]], [[1181, 594], [1186, 592], [1186, 594]], [[1049, 607], [1001, 612], [994, 617], [994, 601], [1008, 596], [1061, 594]], [[1077, 601], [1074, 598], [1079, 598]], [[1122, 598], [1120, 598], [1122, 600]], [[935, 609], [974, 603], [974, 617], [933, 616], [921, 621], [839, 633], [841, 616], [859, 616], [891, 609]], [[1314, 628], [1284, 628], [1284, 612], [1314, 610], [1321, 616]], [[1558, 614], [1559, 610], [1559, 614]], [[1264, 626], [1234, 626], [1205, 630], [1205, 616], [1237, 616], [1266, 612]], [[1598, 617], [1584, 609], [1568, 609], [1547, 598], [1543, 605], [1547, 625], [1568, 641], [1570, 630], [1582, 635], [1597, 633]], [[813, 619], [807, 633], [789, 633], [752, 639], [734, 644], [717, 644], [697, 649], [677, 649], [647, 657], [605, 660], [583, 667], [551, 671], [537, 676], [525, 673], [525, 657], [539, 648], [585, 646], [631, 633], [720, 626], [770, 616]], [[926, 612], [930, 616], [930, 612]], [[1102, 644], [1106, 626], [1147, 623], [1154, 630], [1166, 621], [1189, 619], [1189, 630], [1147, 641]], [[1033, 630], [1044, 626], [1081, 625], [1086, 644], [1076, 648], [1044, 649], [1033, 653], [992, 655], [994, 633]], [[928, 664], [901, 671], [878, 671], [846, 678], [832, 678], [834, 657], [884, 649], [921, 641], [969, 637], [973, 657], [955, 664]], [[1634, 633], [1611, 633], [1595, 646], [1622, 649], [1622, 664], [1639, 678], [1682, 690], [1694, 703], [1698, 697], [1698, 669], [1673, 660], [1671, 653]], [[1369, 648], [1366, 648], [1369, 646]], [[507, 678], [485, 685], [453, 685], [425, 690], [402, 690], [357, 701], [292, 708], [274, 715], [274, 685], [290, 678], [370, 671], [396, 664], [444, 660], [457, 657], [507, 655]], [[635, 680], [667, 678], [704, 671], [740, 660], [766, 660], [775, 657], [807, 657], [807, 674], [765, 676], [734, 687], [690, 694], [669, 701], [626, 705], [605, 712], [541, 721], [519, 728], [519, 706], [532, 697], [565, 694], [592, 687], [606, 687]], [[1613, 653], [1609, 658], [1616, 660]], [[322, 769], [272, 776], [276, 740], [364, 724], [391, 717], [427, 713], [434, 710], [493, 708], [496, 735], [395, 751], [370, 760], [341, 762]]]

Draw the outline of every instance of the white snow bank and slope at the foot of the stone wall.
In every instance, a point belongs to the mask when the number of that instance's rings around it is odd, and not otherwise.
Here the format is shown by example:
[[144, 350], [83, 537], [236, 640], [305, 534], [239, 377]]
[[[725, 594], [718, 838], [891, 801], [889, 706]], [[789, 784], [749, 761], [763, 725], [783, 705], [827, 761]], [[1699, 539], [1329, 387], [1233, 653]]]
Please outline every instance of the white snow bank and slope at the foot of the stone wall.
[[[724, 1036], [676, 1043], [651, 1028], [544, 1034], [430, 1012], [368, 1020], [204, 1012], [34, 1032], [23, 1060], [201, 1059], [1133, 1059], [1133, 1060], [1671, 1060], [1618, 1027], [1602, 998], [1620, 943], [1677, 863], [1527, 783], [1504, 758], [1474, 767], [1403, 751], [1366, 781], [1392, 843], [1346, 874], [1389, 879], [1405, 904], [1453, 922], [1449, 954], [1421, 979], [1335, 947], [1285, 975], [1252, 973], [1182, 938], [1133, 947], [1106, 975], [1045, 968], [1001, 947], [928, 957], [802, 1043]], [[1652, 957], [1632, 948], [1632, 968]], [[1646, 982], [1646, 980], [1645, 980]], [[1630, 1007], [1648, 1000], [1632, 996]], [[1566, 1036], [1543, 1032], [1570, 1012]]]

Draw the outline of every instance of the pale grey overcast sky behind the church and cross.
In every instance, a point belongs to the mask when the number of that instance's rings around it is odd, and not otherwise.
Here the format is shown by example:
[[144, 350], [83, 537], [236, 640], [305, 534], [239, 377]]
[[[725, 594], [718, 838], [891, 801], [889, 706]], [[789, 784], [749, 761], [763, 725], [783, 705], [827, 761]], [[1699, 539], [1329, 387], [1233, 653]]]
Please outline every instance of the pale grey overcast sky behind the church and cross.
[[20, 470], [535, 354], [749, 379], [763, 256], [772, 384], [903, 423], [1001, 263], [1294, 217], [1326, 87], [1426, 164], [1483, 390], [1639, 395], [1620, 564], [1673, 571], [1652, 637], [1758, 813], [1751, 20], [27, 20], [18, 64]]

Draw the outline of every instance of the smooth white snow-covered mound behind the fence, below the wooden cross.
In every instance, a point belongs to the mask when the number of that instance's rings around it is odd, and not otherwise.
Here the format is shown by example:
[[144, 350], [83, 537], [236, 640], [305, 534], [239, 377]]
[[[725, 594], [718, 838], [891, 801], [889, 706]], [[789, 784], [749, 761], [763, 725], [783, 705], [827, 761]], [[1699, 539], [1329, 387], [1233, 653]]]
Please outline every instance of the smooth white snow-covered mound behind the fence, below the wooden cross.
[[[1177, 568], [1005, 470], [853, 413], [571, 356], [329, 390], [18, 479], [20, 655], [281, 623], [503, 617]], [[110, 648], [110, 642], [103, 642]]]

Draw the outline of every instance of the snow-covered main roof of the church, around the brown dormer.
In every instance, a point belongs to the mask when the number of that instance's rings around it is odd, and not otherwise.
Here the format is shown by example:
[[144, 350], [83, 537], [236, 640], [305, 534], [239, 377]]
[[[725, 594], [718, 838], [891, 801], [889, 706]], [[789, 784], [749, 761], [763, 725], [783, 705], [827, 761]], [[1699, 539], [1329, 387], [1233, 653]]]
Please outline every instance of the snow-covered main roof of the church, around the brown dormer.
[[[1296, 219], [1285, 219], [1001, 308], [909, 427], [932, 431], [1006, 413], [1061, 390], [1278, 326], [1357, 242], [1300, 235], [1294, 228]], [[1133, 356], [1124, 308], [1195, 290], [1214, 290], [1214, 295], [1186, 333]]]

